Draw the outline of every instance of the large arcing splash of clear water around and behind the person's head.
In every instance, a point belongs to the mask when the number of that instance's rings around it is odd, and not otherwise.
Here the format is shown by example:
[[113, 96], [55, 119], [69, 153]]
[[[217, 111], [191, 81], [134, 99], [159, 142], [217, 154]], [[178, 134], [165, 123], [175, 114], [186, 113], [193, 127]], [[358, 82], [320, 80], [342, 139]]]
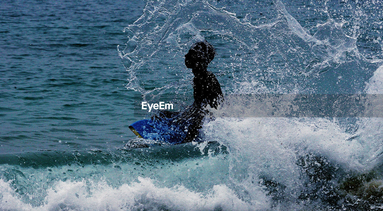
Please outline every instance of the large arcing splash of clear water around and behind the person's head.
[[[329, 19], [310, 34], [282, 2], [267, 3], [262, 5], [262, 10], [270, 10], [267, 17], [241, 20], [239, 14], [209, 1], [149, 1], [143, 15], [124, 29], [129, 41], [119, 48], [129, 71], [127, 88], [149, 99], [167, 95], [179, 103], [188, 99], [191, 72], [185, 70], [183, 55], [203, 37], [216, 46], [219, 58], [210, 69], [228, 93], [255, 93], [260, 81], [264, 92], [363, 90], [373, 70], [366, 68], [370, 62], [360, 57], [357, 39], [345, 33], [343, 22]], [[241, 13], [256, 12], [252, 10], [254, 6]]]

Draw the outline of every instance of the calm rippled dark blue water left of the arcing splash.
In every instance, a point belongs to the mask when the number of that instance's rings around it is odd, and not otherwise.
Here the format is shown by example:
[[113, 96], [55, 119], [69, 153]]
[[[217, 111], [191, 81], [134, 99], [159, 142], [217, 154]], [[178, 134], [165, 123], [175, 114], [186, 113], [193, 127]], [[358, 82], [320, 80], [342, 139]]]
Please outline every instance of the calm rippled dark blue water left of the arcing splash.
[[2, 153], [101, 148], [133, 137], [127, 126], [140, 96], [124, 87], [117, 45], [143, 7], [142, 1], [1, 3]]

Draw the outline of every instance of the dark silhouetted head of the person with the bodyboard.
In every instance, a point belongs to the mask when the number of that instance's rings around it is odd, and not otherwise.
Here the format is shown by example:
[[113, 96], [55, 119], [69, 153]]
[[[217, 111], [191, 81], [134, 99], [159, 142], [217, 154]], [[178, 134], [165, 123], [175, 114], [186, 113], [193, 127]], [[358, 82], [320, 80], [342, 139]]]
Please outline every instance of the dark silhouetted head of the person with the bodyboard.
[[214, 59], [216, 51], [208, 41], [194, 43], [185, 55], [185, 66], [191, 69], [206, 69]]

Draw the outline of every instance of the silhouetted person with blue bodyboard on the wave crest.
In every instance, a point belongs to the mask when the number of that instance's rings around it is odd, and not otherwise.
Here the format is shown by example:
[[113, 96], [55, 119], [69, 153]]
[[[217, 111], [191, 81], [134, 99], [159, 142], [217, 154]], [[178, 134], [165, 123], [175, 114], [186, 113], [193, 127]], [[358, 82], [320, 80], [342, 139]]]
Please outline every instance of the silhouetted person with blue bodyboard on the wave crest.
[[[194, 102], [185, 110], [178, 112], [160, 111], [151, 119], [137, 121], [129, 126], [139, 137], [164, 141], [169, 144], [182, 144], [198, 139], [202, 120], [210, 112], [208, 107], [217, 109], [223, 100], [221, 86], [215, 75], [207, 70], [216, 51], [206, 40], [194, 43], [185, 55], [185, 65], [194, 74]], [[211, 118], [211, 116], [209, 117]], [[150, 144], [132, 140], [126, 144], [129, 148], [148, 147]]]

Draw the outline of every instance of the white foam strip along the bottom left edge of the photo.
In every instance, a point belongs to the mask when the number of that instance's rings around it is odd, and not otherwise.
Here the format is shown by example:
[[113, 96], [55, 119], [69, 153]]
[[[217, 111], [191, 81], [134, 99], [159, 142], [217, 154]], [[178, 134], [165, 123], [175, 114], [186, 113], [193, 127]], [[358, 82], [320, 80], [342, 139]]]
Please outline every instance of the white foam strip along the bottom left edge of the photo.
[[2, 199], [0, 210], [18, 211], [121, 211], [121, 210], [264, 210], [269, 207], [265, 193], [258, 190], [258, 198], [246, 203], [226, 185], [214, 185], [203, 195], [182, 185], [160, 187], [148, 178], [138, 177], [139, 182], [113, 188], [104, 182], [58, 182], [47, 190], [44, 204], [33, 207], [23, 203], [9, 183], [0, 180]]

